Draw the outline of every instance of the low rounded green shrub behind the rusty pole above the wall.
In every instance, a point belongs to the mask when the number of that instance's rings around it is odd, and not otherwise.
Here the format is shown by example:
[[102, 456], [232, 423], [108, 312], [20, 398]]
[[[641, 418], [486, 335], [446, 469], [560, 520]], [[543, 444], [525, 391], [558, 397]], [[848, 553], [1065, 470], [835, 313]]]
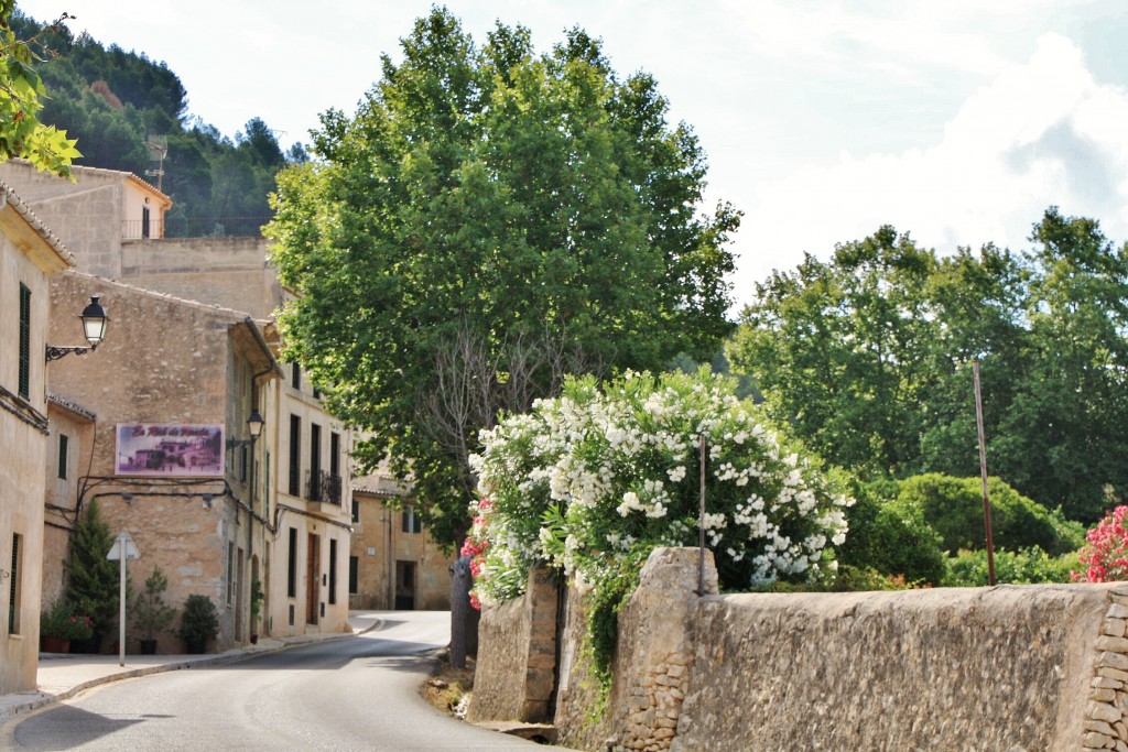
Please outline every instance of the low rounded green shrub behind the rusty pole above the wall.
[[[987, 490], [996, 548], [1037, 546], [1059, 555], [1081, 546], [1083, 528], [1060, 512], [1046, 508], [998, 478], [988, 478]], [[940, 533], [941, 546], [948, 551], [986, 548], [980, 478], [914, 476], [900, 483], [896, 504], [918, 508], [925, 522]]]

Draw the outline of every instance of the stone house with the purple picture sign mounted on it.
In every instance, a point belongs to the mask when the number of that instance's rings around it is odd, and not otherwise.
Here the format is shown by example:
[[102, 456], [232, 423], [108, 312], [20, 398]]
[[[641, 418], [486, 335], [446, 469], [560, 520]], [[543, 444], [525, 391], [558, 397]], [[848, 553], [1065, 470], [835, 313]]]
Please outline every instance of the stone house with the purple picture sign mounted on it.
[[[129, 532], [141, 552], [130, 563], [134, 583], [160, 566], [167, 602], [178, 607], [200, 593], [217, 604], [217, 648], [243, 643], [250, 581], [263, 576], [275, 537], [259, 501], [270, 442], [250, 442], [247, 422], [253, 412], [270, 413], [279, 364], [244, 312], [80, 273], [54, 281], [52, 304], [71, 310], [85, 294], [102, 297], [113, 334], [96, 353], [52, 372], [56, 404], [72, 406], [69, 423], [58, 410], [60, 436], [81, 434], [83, 417], [92, 424], [73, 505], [68, 498], [53, 510], [60, 527], [97, 498], [111, 530]], [[65, 326], [53, 316], [52, 336], [61, 338]], [[45, 557], [61, 560], [65, 536], [50, 543]], [[158, 644], [183, 649], [170, 634]]]

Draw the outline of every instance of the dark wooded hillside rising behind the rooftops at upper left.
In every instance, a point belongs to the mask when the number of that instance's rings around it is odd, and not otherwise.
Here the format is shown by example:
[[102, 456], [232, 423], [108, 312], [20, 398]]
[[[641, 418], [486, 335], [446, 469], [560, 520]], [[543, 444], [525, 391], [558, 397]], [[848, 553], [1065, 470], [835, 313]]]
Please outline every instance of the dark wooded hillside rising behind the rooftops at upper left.
[[144, 53], [106, 47], [18, 10], [11, 27], [17, 38], [35, 38], [35, 70], [47, 91], [39, 120], [78, 139], [74, 165], [148, 176], [173, 198], [168, 237], [258, 235], [271, 216], [274, 176], [306, 159], [299, 144], [283, 153], [258, 117], [233, 139], [188, 120], [179, 78]]

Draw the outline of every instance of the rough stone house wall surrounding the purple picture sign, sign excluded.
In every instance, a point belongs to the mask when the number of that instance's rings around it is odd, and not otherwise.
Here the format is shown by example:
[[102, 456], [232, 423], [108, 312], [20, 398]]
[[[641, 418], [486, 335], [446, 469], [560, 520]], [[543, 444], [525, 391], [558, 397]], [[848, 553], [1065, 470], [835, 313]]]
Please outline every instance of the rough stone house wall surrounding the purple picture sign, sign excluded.
[[[237, 452], [226, 452], [219, 477], [118, 477], [115, 430], [120, 423], [219, 424], [227, 437], [241, 437], [249, 382], [258, 370], [235, 334], [244, 317], [86, 275], [55, 280], [52, 299], [56, 311], [80, 310], [76, 307], [90, 294], [102, 295], [111, 317], [105, 343], [51, 366], [52, 390], [98, 415], [83, 503], [97, 497], [111, 530], [132, 537], [141, 552], [129, 565], [134, 583], [159, 565], [168, 576], [170, 604], [179, 607], [192, 593], [215, 602], [221, 636], [213, 647], [224, 649], [246, 638], [250, 561], [254, 556], [262, 561], [264, 542], [261, 522], [246, 511], [249, 486], [239, 478]], [[53, 317], [52, 337], [71, 326], [67, 318]], [[265, 454], [265, 448], [258, 451]], [[210, 508], [204, 493], [214, 495]], [[127, 648], [133, 647], [131, 640]], [[183, 646], [166, 634], [158, 649]]]

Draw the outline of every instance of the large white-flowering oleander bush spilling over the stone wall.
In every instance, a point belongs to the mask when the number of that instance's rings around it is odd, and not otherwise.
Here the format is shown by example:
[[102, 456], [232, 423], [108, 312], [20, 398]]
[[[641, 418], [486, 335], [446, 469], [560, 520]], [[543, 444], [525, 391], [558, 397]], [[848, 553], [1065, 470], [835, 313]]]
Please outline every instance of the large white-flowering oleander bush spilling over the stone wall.
[[628, 373], [603, 390], [575, 379], [484, 433], [472, 458], [490, 512], [481, 524], [473, 510], [477, 598], [520, 594], [537, 563], [598, 584], [617, 560], [696, 546], [703, 434], [704, 528], [722, 586], [832, 572], [852, 501], [733, 388], [707, 371]]

